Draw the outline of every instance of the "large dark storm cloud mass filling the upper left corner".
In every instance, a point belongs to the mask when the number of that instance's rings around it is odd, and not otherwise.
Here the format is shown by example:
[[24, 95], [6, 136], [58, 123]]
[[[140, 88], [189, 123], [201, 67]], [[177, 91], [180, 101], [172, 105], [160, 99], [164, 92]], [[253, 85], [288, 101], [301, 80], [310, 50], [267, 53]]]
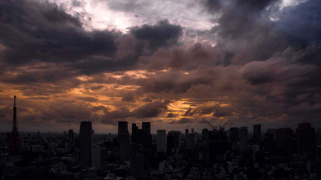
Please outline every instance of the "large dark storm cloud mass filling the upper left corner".
[[112, 55], [114, 32], [83, 29], [77, 17], [48, 2], [12, 0], [0, 2], [1, 43], [8, 49], [8, 63], [32, 59], [49, 62], [75, 61], [90, 54]]

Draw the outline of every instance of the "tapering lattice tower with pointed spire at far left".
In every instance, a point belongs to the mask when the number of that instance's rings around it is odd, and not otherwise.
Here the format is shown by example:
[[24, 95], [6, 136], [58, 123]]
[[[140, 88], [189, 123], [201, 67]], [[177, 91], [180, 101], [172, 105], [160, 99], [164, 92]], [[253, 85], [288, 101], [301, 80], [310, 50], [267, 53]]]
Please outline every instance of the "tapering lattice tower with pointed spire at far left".
[[10, 141], [11, 141], [10, 142], [10, 150], [12, 150], [14, 152], [20, 151], [16, 95], [14, 96], [14, 115], [13, 115], [13, 121], [12, 121], [12, 131], [11, 131], [11, 140]]

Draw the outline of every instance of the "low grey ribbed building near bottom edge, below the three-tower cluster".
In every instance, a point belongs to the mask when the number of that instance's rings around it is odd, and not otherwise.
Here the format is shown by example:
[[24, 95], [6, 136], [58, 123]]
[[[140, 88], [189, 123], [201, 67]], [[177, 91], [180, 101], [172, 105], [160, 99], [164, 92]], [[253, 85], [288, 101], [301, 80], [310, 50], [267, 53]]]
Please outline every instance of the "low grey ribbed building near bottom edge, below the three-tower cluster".
[[144, 155], [134, 154], [130, 156], [130, 174], [132, 177], [139, 177], [144, 174]]

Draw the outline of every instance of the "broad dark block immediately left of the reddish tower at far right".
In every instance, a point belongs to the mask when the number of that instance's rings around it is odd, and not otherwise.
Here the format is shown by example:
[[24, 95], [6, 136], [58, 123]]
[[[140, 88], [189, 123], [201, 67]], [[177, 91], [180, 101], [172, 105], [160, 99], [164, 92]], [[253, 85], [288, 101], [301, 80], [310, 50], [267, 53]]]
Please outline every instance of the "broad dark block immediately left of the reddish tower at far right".
[[293, 130], [289, 127], [276, 129], [276, 147], [286, 152], [292, 151]]

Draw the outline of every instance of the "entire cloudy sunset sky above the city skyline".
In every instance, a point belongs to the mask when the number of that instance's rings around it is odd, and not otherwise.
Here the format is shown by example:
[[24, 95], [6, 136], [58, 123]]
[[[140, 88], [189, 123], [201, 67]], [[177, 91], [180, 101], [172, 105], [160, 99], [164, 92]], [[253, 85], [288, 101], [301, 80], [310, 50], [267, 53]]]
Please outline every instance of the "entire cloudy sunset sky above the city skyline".
[[1, 0], [0, 131], [321, 127], [320, 0]]

